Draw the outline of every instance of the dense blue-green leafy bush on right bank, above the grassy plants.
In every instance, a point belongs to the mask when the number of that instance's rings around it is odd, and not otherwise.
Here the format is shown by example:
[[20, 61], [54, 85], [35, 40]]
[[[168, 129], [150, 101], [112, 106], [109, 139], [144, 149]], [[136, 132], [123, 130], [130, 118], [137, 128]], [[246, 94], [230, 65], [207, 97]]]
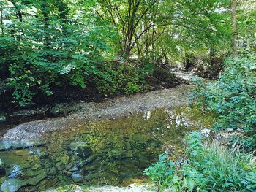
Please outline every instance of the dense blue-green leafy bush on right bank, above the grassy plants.
[[256, 63], [250, 55], [227, 60], [216, 82], [197, 81], [191, 99], [203, 110], [217, 114], [215, 128], [242, 129], [246, 147], [256, 147]]

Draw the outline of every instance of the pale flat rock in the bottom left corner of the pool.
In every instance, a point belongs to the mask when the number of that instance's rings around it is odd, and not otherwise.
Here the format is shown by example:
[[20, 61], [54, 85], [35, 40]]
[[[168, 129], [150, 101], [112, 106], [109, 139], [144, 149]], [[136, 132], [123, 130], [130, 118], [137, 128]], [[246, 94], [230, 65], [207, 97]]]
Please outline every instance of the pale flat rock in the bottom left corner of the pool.
[[26, 185], [26, 182], [23, 180], [5, 180], [4, 183], [1, 184], [1, 192], [15, 192], [22, 188], [24, 185]]

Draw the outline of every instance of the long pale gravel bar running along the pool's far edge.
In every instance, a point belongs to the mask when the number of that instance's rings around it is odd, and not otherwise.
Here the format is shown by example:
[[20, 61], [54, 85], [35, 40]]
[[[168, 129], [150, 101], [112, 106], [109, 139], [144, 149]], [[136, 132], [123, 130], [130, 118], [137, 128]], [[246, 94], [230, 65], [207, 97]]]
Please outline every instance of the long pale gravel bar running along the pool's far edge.
[[47, 132], [73, 128], [96, 119], [118, 118], [133, 112], [184, 105], [188, 102], [187, 94], [191, 90], [191, 85], [182, 84], [175, 88], [140, 93], [129, 97], [118, 97], [102, 103], [81, 102], [79, 104], [80, 110], [67, 117], [36, 120], [20, 124], [7, 131], [1, 137], [1, 140], [40, 138]]

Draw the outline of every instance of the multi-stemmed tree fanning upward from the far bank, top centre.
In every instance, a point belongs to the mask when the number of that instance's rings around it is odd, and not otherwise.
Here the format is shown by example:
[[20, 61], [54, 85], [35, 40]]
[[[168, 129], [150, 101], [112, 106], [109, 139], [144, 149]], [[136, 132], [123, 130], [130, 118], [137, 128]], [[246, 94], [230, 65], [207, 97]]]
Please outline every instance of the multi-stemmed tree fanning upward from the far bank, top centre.
[[[151, 9], [159, 0], [99, 0], [99, 9], [97, 14], [101, 18], [110, 20], [113, 26], [117, 28], [121, 36], [121, 55], [129, 58], [132, 54], [132, 48], [137, 45], [138, 40], [154, 26], [150, 20]], [[147, 21], [146, 21], [147, 20]], [[138, 28], [143, 28], [138, 33]]]

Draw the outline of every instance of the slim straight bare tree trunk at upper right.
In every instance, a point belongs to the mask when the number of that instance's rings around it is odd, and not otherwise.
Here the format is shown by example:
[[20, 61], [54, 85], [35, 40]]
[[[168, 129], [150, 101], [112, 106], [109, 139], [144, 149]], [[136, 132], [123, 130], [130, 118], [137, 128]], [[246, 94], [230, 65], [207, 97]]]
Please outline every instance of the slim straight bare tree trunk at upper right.
[[236, 15], [237, 2], [231, 0], [231, 20], [233, 29], [233, 55], [234, 58], [238, 57], [238, 27], [237, 27], [237, 15]]

